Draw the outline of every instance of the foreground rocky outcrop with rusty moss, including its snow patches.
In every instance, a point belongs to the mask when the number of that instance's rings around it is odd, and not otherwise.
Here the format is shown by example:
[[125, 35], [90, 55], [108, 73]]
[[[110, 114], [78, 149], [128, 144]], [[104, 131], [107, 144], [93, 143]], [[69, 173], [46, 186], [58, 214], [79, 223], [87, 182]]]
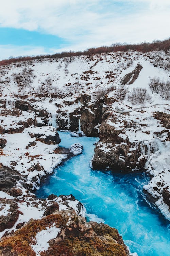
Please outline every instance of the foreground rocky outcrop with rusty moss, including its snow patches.
[[[8, 235], [5, 234], [0, 241], [0, 255], [35, 255], [37, 252], [43, 256], [129, 255], [128, 248], [118, 231], [103, 223], [86, 222], [84, 215], [82, 215], [82, 204], [72, 195], [61, 195], [60, 197], [52, 195], [51, 201], [48, 198], [48, 201], [41, 202], [34, 197], [29, 198], [29, 203], [32, 205], [34, 203], [35, 209], [41, 203], [40, 207], [44, 209], [44, 217], [37, 220], [32, 218], [25, 224], [18, 223], [17, 231]], [[3, 203], [8, 204], [12, 201], [9, 199], [2, 200]], [[17, 200], [13, 202], [14, 212], [17, 212], [17, 203]], [[63, 208], [65, 210], [62, 210]], [[6, 224], [9, 219], [7, 216], [4, 217]], [[12, 216], [10, 218], [12, 223]], [[50, 240], [46, 233], [47, 230], [48, 234], [53, 231]], [[37, 237], [47, 243], [46, 248], [43, 248], [44, 243], [41, 246], [38, 245]]]

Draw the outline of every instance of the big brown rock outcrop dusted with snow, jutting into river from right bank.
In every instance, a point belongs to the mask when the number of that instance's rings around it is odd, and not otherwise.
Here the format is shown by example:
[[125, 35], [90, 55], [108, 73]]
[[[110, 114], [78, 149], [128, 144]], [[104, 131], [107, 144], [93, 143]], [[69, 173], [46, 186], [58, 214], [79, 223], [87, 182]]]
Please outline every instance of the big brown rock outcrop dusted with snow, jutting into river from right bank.
[[126, 120], [119, 120], [114, 114], [102, 122], [99, 128], [99, 142], [95, 148], [92, 166], [95, 169], [112, 168], [131, 171], [145, 165], [145, 158], [139, 158], [138, 148], [125, 134]]

